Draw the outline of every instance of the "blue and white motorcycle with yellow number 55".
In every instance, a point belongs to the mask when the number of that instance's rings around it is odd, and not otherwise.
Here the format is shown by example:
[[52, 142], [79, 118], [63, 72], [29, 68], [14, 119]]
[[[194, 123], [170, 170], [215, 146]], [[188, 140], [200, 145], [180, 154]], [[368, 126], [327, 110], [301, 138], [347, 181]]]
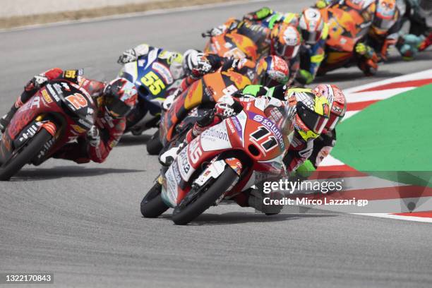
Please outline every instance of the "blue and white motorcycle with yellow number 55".
[[138, 103], [128, 114], [126, 123], [126, 132], [135, 136], [157, 127], [162, 102], [181, 83], [181, 80], [174, 80], [169, 68], [161, 63], [163, 53], [160, 49], [152, 49], [137, 61], [124, 64], [119, 72], [119, 77], [130, 80], [138, 90]]

